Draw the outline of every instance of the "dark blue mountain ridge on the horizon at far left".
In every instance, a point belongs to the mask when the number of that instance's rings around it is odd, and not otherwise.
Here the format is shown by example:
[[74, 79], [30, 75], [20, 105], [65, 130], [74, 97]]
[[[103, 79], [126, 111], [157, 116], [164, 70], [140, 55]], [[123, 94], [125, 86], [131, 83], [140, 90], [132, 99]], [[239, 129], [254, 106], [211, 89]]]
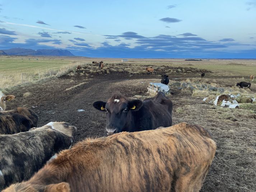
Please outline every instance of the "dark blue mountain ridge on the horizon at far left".
[[[30, 55], [30, 56], [74, 56], [68, 50], [61, 50], [61, 49], [39, 49], [39, 50], [32, 50], [32, 49], [24, 49], [24, 48], [11, 48], [8, 50], [1, 50], [6, 55]], [[0, 51], [0, 55], [1, 55]]]

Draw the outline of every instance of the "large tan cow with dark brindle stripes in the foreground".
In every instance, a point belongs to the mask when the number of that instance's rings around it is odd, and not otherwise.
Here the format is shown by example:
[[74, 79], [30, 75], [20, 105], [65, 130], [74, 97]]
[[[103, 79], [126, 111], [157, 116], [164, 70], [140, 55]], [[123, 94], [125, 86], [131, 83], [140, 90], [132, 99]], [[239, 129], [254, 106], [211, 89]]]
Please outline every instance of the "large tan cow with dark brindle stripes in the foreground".
[[88, 138], [3, 192], [198, 192], [215, 151], [211, 133], [188, 123]]

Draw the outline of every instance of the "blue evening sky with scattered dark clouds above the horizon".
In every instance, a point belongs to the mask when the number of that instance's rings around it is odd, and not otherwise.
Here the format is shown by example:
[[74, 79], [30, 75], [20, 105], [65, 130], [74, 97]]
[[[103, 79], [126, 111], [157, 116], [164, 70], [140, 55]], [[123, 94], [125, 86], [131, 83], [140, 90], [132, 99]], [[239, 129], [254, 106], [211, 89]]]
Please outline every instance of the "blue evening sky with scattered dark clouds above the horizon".
[[256, 0], [0, 0], [0, 50], [256, 58]]

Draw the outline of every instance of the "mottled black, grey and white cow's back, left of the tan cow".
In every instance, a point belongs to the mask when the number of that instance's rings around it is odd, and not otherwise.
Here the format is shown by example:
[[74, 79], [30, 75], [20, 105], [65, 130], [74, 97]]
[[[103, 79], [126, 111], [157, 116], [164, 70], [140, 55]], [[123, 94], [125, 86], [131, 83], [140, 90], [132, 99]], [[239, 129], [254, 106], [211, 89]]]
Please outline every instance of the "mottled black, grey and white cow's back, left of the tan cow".
[[0, 190], [27, 180], [75, 140], [76, 127], [65, 122], [50, 122], [14, 135], [0, 135]]

